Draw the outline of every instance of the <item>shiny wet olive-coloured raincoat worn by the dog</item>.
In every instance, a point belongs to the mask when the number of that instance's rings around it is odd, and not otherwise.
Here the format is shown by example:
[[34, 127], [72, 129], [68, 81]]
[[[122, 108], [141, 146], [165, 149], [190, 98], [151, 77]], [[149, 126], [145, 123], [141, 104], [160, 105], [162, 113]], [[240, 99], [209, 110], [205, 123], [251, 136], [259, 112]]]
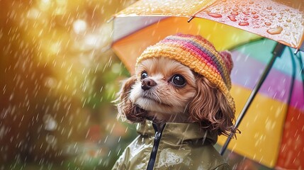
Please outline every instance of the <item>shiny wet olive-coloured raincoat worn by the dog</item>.
[[146, 120], [137, 125], [137, 132], [113, 169], [230, 169], [213, 147], [218, 135], [196, 123], [166, 123], [157, 130]]

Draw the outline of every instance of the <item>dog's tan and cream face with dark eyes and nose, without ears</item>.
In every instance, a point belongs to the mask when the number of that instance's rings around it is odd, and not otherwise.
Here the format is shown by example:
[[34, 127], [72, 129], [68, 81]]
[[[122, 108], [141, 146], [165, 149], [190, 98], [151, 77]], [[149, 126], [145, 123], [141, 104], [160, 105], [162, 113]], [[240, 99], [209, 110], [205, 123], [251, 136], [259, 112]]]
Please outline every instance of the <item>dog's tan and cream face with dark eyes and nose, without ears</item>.
[[186, 105], [196, 94], [193, 72], [175, 60], [162, 57], [144, 60], [137, 66], [135, 75], [137, 80], [130, 91], [130, 100], [154, 114], [184, 114]]

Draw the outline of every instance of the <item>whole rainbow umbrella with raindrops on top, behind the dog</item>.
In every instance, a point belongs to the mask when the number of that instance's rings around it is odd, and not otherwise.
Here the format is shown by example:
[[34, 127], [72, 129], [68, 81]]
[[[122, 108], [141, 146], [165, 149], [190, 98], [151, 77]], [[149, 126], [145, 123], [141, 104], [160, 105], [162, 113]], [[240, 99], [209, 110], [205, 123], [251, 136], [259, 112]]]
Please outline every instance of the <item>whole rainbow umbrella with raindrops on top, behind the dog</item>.
[[[293, 97], [293, 94], [303, 94], [302, 79], [296, 77], [292, 81], [293, 74], [286, 72], [287, 69], [276, 70], [277, 56], [282, 56], [279, 60], [289, 56], [283, 62], [284, 68], [291, 65], [286, 63], [293, 63], [291, 57], [296, 58], [284, 45], [294, 47], [295, 52], [303, 50], [303, 4], [303, 1], [270, 0], [137, 1], [113, 17], [112, 49], [130, 72], [134, 72], [135, 59], [147, 46], [174, 33], [203, 35], [213, 42], [217, 50], [238, 47], [233, 50], [234, 70], [237, 71], [232, 73], [232, 96], [237, 105], [236, 125], [240, 125], [242, 134], [237, 135], [237, 140], [232, 140], [230, 145], [227, 145], [230, 137], [228, 140], [220, 137], [218, 143], [224, 145], [222, 152], [228, 147], [236, 154], [269, 168], [304, 167], [304, 163], [299, 161], [304, 157], [304, 147], [298, 142], [304, 140], [304, 123], [300, 121], [304, 114], [303, 96]], [[247, 48], [260, 53], [250, 53]], [[269, 53], [272, 49], [275, 49], [273, 54]], [[298, 52], [297, 56], [300, 55], [302, 52]], [[242, 64], [243, 60], [246, 64]], [[296, 72], [298, 67], [292, 65], [290, 70], [295, 69]], [[242, 77], [233, 75], [236, 72], [243, 73]], [[281, 74], [272, 75], [272, 72], [280, 72], [285, 78]], [[262, 86], [264, 79], [266, 85]], [[269, 79], [272, 84], [268, 83]], [[289, 86], [286, 82], [290, 82]], [[264, 86], [269, 88], [265, 91]], [[288, 89], [295, 92], [288, 93]], [[288, 132], [295, 123], [299, 124], [292, 129], [293, 132]], [[296, 141], [288, 140], [291, 134]]]

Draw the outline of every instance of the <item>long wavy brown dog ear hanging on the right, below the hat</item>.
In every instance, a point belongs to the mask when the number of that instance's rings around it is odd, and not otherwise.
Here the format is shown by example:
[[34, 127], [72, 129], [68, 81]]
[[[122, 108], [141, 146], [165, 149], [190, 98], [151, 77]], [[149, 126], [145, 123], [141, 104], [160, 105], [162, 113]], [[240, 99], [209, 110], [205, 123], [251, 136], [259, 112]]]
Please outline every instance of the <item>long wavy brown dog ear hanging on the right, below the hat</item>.
[[235, 132], [232, 123], [235, 115], [225, 95], [205, 77], [197, 76], [196, 84], [197, 94], [187, 106], [191, 121], [200, 123], [203, 129], [218, 132], [218, 135]]

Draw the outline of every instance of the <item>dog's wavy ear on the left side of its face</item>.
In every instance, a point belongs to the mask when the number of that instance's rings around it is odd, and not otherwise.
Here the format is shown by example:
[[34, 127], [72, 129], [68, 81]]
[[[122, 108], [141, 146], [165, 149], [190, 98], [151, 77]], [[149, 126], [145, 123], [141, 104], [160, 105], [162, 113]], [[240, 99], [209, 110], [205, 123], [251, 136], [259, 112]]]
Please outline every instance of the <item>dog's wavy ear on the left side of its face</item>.
[[115, 101], [118, 108], [117, 118], [123, 121], [129, 120], [131, 123], [143, 122], [145, 120], [145, 111], [130, 101], [130, 91], [133, 89], [135, 82], [135, 76], [123, 81], [120, 92], [118, 92], [119, 96]]

